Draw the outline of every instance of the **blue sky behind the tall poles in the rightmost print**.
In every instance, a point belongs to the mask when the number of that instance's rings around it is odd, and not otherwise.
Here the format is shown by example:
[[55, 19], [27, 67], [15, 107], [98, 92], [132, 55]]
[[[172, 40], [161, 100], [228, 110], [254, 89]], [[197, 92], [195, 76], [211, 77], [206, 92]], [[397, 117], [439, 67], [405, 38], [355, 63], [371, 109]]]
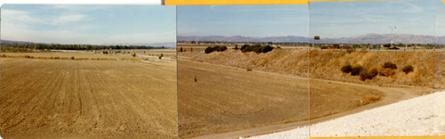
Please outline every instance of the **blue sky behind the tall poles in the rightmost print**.
[[445, 5], [441, 0], [311, 2], [310, 36], [353, 37], [368, 33], [445, 36]]

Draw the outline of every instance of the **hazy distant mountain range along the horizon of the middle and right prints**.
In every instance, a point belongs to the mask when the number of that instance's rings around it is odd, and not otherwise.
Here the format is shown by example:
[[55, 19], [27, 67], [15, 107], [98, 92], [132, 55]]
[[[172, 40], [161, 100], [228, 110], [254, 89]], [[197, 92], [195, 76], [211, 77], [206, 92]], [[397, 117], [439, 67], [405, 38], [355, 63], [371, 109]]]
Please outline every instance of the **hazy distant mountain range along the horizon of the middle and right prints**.
[[[206, 37], [186, 37], [178, 36], [178, 41], [215, 41], [215, 42], [308, 42], [313, 38], [309, 37], [223, 37], [223, 36], [206, 36]], [[409, 34], [394, 34], [392, 38], [395, 44], [433, 44], [435, 37], [433, 36], [419, 36]], [[357, 37], [338, 37], [338, 38], [326, 38], [320, 37], [317, 43], [328, 44], [389, 44], [391, 41], [391, 34], [367, 34]], [[445, 44], [445, 36], [437, 37], [437, 44]]]

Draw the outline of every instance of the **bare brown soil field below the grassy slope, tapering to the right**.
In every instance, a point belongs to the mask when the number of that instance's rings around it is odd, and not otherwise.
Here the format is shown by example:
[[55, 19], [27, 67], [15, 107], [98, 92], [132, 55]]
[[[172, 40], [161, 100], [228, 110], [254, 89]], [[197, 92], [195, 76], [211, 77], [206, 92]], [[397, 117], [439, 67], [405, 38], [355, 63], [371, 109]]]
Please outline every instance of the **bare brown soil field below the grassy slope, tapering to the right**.
[[[178, 71], [181, 138], [303, 121], [309, 124], [310, 113], [314, 118], [325, 117], [367, 105], [360, 103], [360, 100], [366, 100], [368, 96], [379, 99], [385, 96], [373, 88], [314, 80], [312, 82], [317, 82], [318, 86], [311, 88], [310, 112], [307, 78], [247, 71], [181, 58]], [[266, 131], [282, 130], [276, 127], [269, 129]]]

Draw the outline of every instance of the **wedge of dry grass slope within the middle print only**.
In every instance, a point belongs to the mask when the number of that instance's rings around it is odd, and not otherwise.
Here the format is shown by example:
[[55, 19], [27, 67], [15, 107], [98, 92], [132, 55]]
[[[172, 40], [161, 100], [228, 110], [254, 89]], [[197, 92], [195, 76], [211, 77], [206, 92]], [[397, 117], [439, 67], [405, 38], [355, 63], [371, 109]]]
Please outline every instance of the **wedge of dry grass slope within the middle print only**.
[[241, 53], [228, 50], [223, 53], [201, 54], [192, 60], [307, 77], [309, 67], [307, 54], [307, 51], [284, 49], [269, 53]]

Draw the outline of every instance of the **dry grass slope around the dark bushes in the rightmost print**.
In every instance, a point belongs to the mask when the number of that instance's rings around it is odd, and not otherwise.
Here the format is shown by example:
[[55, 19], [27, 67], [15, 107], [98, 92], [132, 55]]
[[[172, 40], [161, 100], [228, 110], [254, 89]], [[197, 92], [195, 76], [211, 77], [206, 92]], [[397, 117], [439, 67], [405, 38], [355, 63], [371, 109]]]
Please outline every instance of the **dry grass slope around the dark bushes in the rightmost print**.
[[[367, 84], [379, 86], [433, 86], [434, 53], [433, 52], [353, 52], [311, 51], [311, 77], [359, 82], [360, 77], [352, 77], [340, 71], [345, 64], [360, 64], [365, 69], [381, 68], [384, 62], [397, 64], [395, 75], [377, 76], [367, 80]], [[406, 74], [401, 71], [404, 66], [412, 65], [414, 71]]]

